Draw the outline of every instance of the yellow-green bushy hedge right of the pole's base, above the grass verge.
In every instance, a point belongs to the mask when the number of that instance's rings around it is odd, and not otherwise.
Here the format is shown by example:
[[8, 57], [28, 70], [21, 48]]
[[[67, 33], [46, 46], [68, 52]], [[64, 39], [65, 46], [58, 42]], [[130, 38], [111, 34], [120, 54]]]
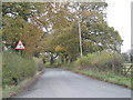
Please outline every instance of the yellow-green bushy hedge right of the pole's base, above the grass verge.
[[114, 52], [95, 52], [83, 57], [84, 68], [98, 68], [99, 70], [120, 71], [123, 60], [121, 54]]

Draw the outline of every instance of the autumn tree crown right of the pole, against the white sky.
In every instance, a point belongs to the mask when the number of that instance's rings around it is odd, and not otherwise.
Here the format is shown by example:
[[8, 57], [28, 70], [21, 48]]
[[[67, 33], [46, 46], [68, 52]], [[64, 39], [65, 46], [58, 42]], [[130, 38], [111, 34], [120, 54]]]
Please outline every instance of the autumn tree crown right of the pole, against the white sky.
[[80, 4], [80, 18], [83, 41], [91, 42], [94, 46], [93, 51], [85, 49], [84, 51], [95, 52], [102, 50], [114, 50], [120, 52], [122, 39], [117, 31], [110, 28], [105, 22], [105, 2], [92, 2]]

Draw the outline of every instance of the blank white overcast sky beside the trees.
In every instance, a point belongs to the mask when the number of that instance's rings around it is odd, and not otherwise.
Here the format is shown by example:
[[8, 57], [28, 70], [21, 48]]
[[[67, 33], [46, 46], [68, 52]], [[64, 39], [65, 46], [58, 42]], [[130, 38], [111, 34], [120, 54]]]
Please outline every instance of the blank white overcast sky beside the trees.
[[105, 0], [108, 7], [108, 23], [119, 31], [124, 40], [122, 52], [131, 49], [131, 2], [133, 0]]

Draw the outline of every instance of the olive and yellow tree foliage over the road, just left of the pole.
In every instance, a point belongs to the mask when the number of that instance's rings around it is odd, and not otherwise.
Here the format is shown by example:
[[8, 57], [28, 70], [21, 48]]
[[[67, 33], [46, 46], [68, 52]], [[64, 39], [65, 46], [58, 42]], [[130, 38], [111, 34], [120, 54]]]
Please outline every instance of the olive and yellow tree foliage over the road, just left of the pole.
[[[40, 42], [41, 52], [50, 53], [51, 61], [54, 59], [53, 54], [62, 58], [62, 61], [75, 60], [79, 56], [79, 33], [78, 27], [70, 27], [68, 29], [58, 30], [54, 33], [45, 34]], [[55, 57], [57, 57], [55, 56]]]

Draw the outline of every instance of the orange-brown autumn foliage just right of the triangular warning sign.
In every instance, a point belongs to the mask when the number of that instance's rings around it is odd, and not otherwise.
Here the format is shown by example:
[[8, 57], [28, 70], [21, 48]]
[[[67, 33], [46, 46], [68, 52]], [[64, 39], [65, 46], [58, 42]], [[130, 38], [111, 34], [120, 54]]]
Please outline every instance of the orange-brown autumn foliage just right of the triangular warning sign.
[[35, 51], [35, 46], [41, 37], [42, 31], [38, 29], [37, 26], [24, 22], [23, 24], [23, 33], [21, 40], [25, 46], [25, 50], [23, 53], [25, 56], [30, 56]]

